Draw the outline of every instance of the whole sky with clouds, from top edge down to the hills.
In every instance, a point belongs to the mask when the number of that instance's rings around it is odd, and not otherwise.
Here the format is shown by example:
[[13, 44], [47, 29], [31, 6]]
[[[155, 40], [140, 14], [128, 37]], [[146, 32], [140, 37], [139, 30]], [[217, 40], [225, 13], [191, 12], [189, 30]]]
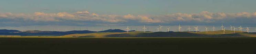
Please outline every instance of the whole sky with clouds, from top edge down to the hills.
[[[54, 30], [158, 25], [243, 26], [256, 21], [256, 0], [0, 0], [0, 29]], [[97, 28], [96, 28], [97, 27]], [[65, 28], [65, 29], [64, 29]], [[84, 29], [84, 28], [83, 28]], [[79, 30], [79, 29], [78, 29]], [[164, 29], [166, 30], [166, 29]], [[176, 28], [173, 28], [176, 31]]]

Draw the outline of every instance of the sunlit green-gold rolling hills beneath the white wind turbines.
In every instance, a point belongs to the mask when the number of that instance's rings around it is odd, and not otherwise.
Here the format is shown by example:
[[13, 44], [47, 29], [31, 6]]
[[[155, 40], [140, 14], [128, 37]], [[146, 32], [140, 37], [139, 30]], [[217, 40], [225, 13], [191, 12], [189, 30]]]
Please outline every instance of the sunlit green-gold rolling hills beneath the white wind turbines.
[[223, 30], [218, 31], [203, 31], [203, 32], [102, 32], [102, 33], [85, 33], [85, 34], [71, 34], [62, 37], [253, 37], [256, 33], [247, 33], [243, 31]]

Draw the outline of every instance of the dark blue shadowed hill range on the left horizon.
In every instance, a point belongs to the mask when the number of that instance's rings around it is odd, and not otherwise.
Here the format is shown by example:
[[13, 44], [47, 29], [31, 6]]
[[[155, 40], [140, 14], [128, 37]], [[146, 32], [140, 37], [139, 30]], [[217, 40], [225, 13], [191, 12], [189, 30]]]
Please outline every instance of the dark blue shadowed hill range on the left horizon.
[[[94, 33], [97, 31], [89, 30], [73, 30], [73, 31], [40, 31], [40, 30], [28, 30], [28, 31], [19, 31], [19, 30], [7, 30], [1, 29], [0, 35], [19, 35], [19, 36], [63, 36], [76, 33]], [[98, 32], [126, 32], [120, 29], [109, 29]]]

